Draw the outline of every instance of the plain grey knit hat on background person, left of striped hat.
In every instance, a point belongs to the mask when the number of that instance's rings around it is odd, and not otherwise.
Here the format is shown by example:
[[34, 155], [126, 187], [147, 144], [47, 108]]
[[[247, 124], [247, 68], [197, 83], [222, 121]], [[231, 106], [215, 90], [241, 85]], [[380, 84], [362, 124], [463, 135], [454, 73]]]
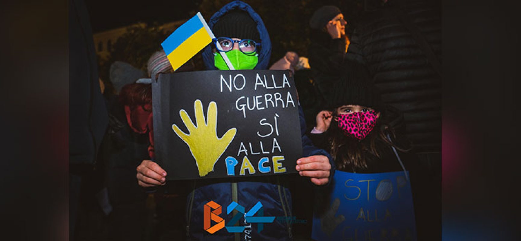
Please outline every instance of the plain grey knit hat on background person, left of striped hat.
[[136, 80], [143, 77], [146, 77], [143, 70], [135, 68], [126, 62], [115, 61], [110, 65], [109, 78], [110, 82], [114, 85], [116, 94], [121, 91], [123, 86], [134, 83]]

